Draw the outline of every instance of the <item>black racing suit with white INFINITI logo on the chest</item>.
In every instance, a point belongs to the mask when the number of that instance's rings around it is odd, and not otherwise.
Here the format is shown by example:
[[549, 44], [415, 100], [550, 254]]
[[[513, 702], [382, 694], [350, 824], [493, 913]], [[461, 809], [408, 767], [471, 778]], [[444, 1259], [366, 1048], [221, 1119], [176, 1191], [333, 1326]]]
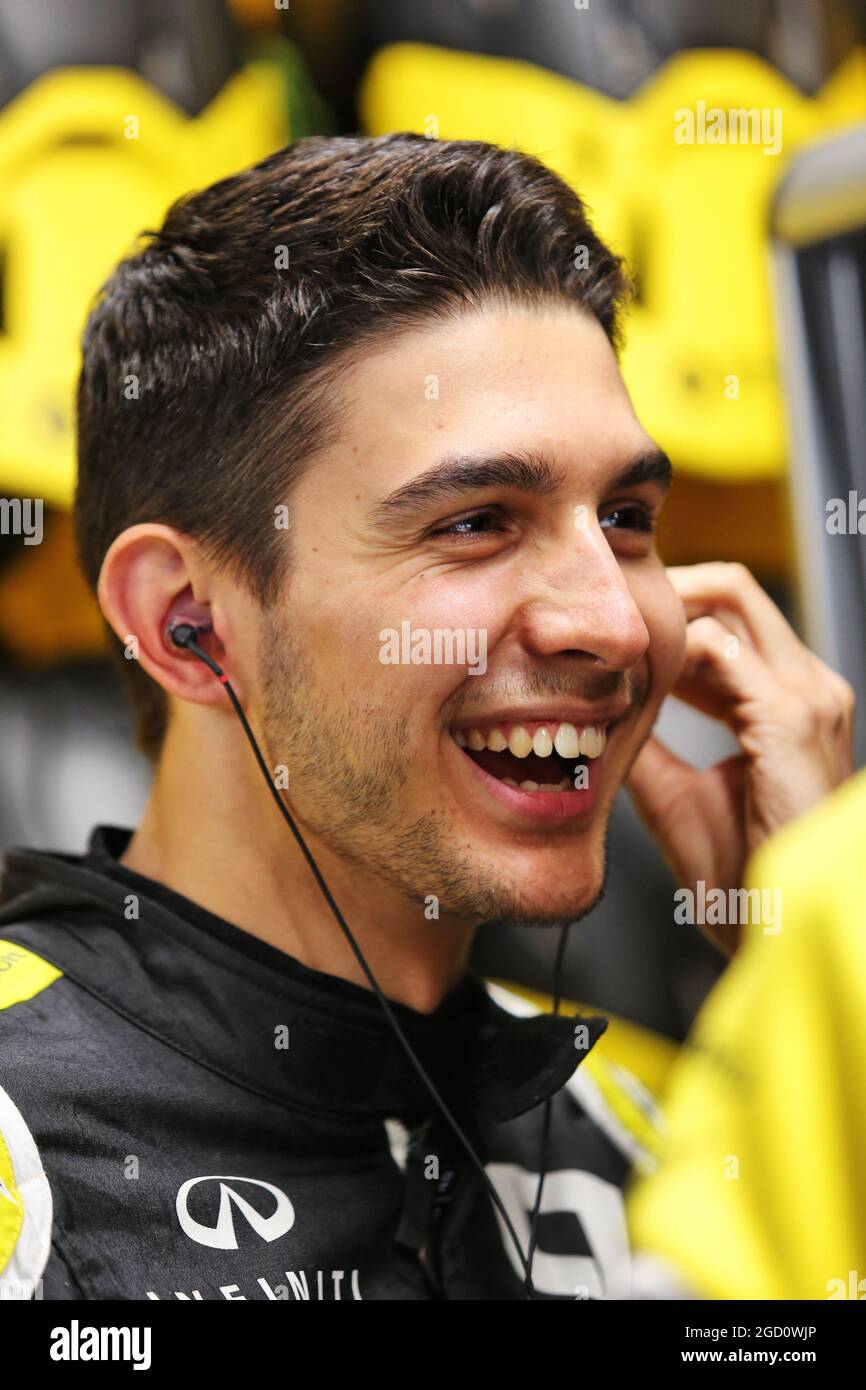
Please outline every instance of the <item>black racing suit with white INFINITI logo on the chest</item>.
[[[101, 826], [83, 856], [7, 856], [0, 1291], [525, 1297], [489, 1193], [374, 995], [125, 869], [129, 835]], [[467, 972], [432, 1013], [393, 1009], [524, 1250], [555, 1097], [534, 1282], [620, 1297], [634, 1154], [575, 1088], [606, 1020], [527, 1015], [491, 988]]]

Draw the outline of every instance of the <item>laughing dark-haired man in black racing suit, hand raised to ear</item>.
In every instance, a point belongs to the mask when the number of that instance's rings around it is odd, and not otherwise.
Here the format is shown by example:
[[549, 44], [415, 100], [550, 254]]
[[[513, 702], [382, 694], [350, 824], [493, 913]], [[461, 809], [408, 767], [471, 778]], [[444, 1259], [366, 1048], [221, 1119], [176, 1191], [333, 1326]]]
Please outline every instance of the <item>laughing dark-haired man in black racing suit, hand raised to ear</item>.
[[[133, 833], [10, 856], [10, 1287], [626, 1291], [646, 1154], [578, 1068], [603, 1020], [485, 990], [473, 933], [592, 908], [627, 776], [680, 881], [735, 887], [849, 770], [851, 699], [738, 567], [662, 566], [624, 297], [541, 164], [411, 135], [302, 140], [106, 286], [76, 527], [154, 781]], [[673, 688], [737, 759], [651, 738]]]

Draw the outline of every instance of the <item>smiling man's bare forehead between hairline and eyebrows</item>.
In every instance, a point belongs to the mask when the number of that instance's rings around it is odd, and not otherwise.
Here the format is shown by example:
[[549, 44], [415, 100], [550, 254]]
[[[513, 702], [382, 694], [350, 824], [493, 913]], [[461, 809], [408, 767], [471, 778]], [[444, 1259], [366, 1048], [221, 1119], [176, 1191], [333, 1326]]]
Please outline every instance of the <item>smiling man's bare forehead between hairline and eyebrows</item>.
[[353, 500], [366, 513], [379, 509], [379, 520], [473, 485], [607, 486], [639, 456], [659, 453], [603, 329], [567, 307], [466, 314], [402, 332], [371, 346], [345, 386], [331, 460]]

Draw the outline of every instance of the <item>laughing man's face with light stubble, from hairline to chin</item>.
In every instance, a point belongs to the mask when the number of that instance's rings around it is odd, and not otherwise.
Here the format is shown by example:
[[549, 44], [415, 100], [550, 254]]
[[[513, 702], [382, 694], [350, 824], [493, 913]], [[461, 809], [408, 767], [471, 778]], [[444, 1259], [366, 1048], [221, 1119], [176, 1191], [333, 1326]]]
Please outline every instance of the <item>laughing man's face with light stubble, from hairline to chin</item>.
[[467, 313], [370, 349], [343, 421], [292, 491], [261, 634], [271, 766], [307, 831], [410, 901], [580, 916], [685, 630], [610, 345], [570, 307]]

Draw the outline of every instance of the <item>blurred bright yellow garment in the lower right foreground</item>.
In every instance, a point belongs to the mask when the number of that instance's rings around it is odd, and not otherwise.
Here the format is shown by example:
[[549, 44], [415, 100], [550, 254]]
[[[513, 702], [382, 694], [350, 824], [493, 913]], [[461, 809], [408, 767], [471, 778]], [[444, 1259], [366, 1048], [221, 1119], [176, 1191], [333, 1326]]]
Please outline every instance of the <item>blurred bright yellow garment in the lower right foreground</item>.
[[635, 1270], [705, 1298], [866, 1298], [866, 774], [746, 887], [773, 908], [673, 1069], [660, 1161], [628, 1191]]

